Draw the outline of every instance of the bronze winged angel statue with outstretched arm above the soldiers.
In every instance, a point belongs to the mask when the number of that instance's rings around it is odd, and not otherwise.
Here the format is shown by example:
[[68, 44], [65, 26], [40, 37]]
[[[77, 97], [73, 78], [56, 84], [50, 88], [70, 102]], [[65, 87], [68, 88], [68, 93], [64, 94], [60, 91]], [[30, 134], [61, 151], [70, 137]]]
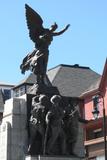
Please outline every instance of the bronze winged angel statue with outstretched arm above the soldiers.
[[56, 23], [54, 23], [49, 29], [44, 28], [43, 20], [40, 15], [27, 4], [25, 4], [25, 9], [29, 36], [35, 43], [35, 49], [23, 59], [20, 68], [22, 73], [25, 73], [27, 70], [31, 70], [36, 74], [37, 84], [44, 83], [49, 55], [49, 45], [51, 44], [54, 36], [64, 33], [70, 25], [67, 25], [60, 32], [55, 32], [58, 28]]

